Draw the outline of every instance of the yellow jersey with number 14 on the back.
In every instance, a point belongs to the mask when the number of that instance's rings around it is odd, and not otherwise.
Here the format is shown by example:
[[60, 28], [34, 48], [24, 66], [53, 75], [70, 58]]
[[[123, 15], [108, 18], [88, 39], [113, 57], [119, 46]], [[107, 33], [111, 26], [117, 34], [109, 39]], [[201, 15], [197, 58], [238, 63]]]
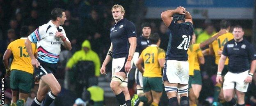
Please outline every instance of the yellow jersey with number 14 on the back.
[[[217, 33], [215, 33], [213, 36], [215, 35], [217, 35]], [[220, 55], [218, 54], [218, 51], [222, 51], [226, 42], [228, 42], [229, 40], [232, 40], [233, 38], [234, 37], [232, 33], [225, 33], [219, 36], [215, 41], [213, 41], [212, 44], [209, 45], [210, 48], [213, 48], [213, 51], [215, 53], [215, 64], [219, 64]], [[228, 64], [229, 64], [229, 59], [226, 59], [225, 65], [228, 65]]]

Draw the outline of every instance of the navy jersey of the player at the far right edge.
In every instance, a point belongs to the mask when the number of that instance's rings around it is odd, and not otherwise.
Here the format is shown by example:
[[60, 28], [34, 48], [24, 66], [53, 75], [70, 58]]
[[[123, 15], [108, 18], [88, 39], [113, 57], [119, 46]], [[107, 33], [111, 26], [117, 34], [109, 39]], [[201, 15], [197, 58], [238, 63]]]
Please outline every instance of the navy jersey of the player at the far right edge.
[[256, 60], [254, 46], [245, 39], [240, 42], [235, 42], [234, 39], [226, 42], [222, 55], [229, 58], [228, 70], [232, 73], [249, 70], [250, 62]]

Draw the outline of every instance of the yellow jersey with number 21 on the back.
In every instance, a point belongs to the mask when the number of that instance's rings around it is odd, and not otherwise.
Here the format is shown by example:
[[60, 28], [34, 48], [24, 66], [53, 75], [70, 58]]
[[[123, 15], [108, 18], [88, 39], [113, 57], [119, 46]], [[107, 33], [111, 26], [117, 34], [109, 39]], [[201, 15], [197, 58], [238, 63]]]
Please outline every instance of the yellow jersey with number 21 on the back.
[[144, 61], [143, 77], [162, 77], [161, 66], [158, 59], [165, 58], [165, 51], [155, 44], [144, 49], [139, 57]]

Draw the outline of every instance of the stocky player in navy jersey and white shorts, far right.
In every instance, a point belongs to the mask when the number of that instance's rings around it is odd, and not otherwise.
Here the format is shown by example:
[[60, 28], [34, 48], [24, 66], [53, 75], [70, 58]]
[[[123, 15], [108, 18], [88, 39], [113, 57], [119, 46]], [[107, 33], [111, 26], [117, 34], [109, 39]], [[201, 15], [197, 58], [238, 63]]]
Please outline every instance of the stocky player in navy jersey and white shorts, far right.
[[[254, 46], [243, 39], [244, 31], [241, 26], [233, 29], [234, 39], [226, 42], [219, 59], [216, 82], [222, 82], [222, 70], [229, 57], [228, 70], [224, 77], [223, 95], [229, 106], [245, 106], [245, 93], [256, 69], [256, 51]], [[251, 66], [250, 66], [251, 63]], [[237, 95], [237, 103], [233, 92]]]

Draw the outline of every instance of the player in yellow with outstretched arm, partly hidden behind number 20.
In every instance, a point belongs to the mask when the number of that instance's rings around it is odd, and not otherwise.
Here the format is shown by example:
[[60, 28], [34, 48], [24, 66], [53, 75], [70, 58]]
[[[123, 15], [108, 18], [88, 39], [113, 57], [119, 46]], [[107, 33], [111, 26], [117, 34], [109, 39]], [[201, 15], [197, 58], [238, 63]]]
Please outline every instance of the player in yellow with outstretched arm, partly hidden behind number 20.
[[[206, 41], [204, 41], [200, 44], [194, 44], [195, 41], [196, 41], [196, 35], [193, 34], [192, 44], [191, 44], [191, 46], [189, 47], [189, 49], [187, 51], [188, 63], [189, 63], [189, 75], [190, 75], [190, 77], [189, 77], [190, 106], [196, 106], [197, 105], [197, 98], [199, 97], [199, 93], [201, 91], [201, 85], [200, 85], [201, 74], [200, 74], [200, 72], [195, 73], [195, 71], [194, 71], [194, 69], [195, 69], [194, 64], [195, 64], [195, 58], [196, 58], [197, 52], [201, 51], [201, 48], [204, 48], [204, 47], [208, 46], [209, 44], [211, 44], [214, 40], [216, 40], [220, 35], [223, 35], [224, 33], [226, 33], [225, 29], [220, 30], [215, 36], [209, 38], [208, 40], [206, 40]], [[192, 86], [192, 84], [194, 84], [194, 85]]]

